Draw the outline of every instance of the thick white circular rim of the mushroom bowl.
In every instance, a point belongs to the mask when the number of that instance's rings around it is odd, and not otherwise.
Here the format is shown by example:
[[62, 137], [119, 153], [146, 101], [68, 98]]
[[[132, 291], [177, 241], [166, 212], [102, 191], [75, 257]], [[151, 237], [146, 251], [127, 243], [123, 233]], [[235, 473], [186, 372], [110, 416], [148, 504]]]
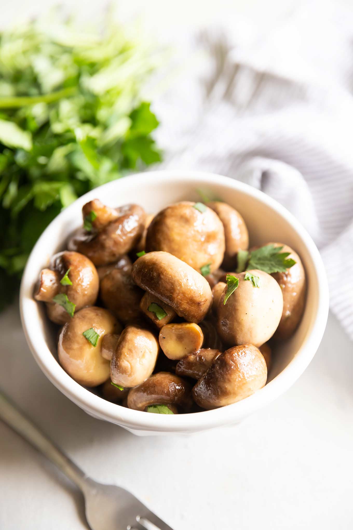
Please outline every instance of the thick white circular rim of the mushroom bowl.
[[[76, 209], [78, 205], [82, 206], [88, 200], [92, 200], [97, 194], [97, 190], [100, 190], [101, 188], [113, 189], [120, 185], [138, 186], [140, 183], [146, 185], [148, 180], [153, 180], [154, 184], [162, 184], [168, 180], [176, 180], [182, 184], [185, 181], [193, 180], [203, 185], [216, 183], [225, 188], [239, 190], [260, 202], [263, 202], [271, 209], [274, 209], [280, 216], [284, 217], [286, 222], [291, 225], [293, 231], [301, 238], [312, 259], [314, 277], [317, 284], [316, 288], [318, 291], [318, 306], [316, 315], [314, 315], [311, 324], [311, 329], [307, 332], [306, 338], [298, 349], [297, 354], [282, 372], [280, 372], [266, 386], [248, 398], [228, 405], [227, 407], [188, 414], [176, 414], [172, 418], [169, 414], [166, 416], [146, 414], [141, 411], [128, 409], [119, 405], [117, 406], [115, 403], [100, 398], [85, 387], [76, 383], [76, 381], [65, 372], [56, 358], [51, 354], [44, 333], [41, 331], [41, 342], [44, 342], [44, 344], [38, 346], [38, 328], [35, 325], [33, 326], [33, 315], [31, 318], [31, 302], [33, 302], [33, 298], [29, 297], [28, 293], [32, 293], [33, 290], [31, 270], [33, 270], [33, 267], [38, 267], [39, 259], [37, 253], [42, 246], [42, 242], [47, 239], [53, 226], [61, 224], [66, 216], [70, 216], [71, 211]], [[267, 196], [264, 192], [256, 188], [252, 188], [246, 183], [237, 181], [228, 176], [194, 170], [157, 170], [135, 173], [126, 176], [123, 179], [108, 182], [85, 193], [85, 195], [78, 198], [73, 204], [65, 208], [65, 210], [53, 219], [41, 234], [30, 253], [23, 272], [20, 288], [20, 313], [26, 341], [28, 342], [34, 359], [53, 385], [55, 385], [71, 401], [74, 401], [79, 405], [79, 407], [86, 410], [86, 412], [91, 413], [92, 416], [117, 423], [118, 425], [133, 430], [156, 432], [180, 433], [212, 429], [227, 424], [232, 425], [255, 410], [265, 407], [265, 405], [275, 400], [280, 394], [288, 390], [296, 379], [301, 376], [314, 357], [325, 330], [328, 311], [329, 288], [324, 265], [311, 236], [306, 232], [306, 229], [298, 222], [298, 220], [275, 199]]]

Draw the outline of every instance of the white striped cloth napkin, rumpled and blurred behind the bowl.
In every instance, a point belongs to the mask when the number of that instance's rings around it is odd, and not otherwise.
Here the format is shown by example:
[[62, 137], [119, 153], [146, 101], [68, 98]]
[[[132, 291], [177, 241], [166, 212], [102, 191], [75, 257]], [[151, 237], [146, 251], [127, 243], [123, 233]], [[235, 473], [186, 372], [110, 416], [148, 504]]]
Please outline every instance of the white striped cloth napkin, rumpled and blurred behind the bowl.
[[191, 61], [156, 110], [165, 166], [248, 182], [302, 222], [321, 251], [331, 309], [353, 339], [351, 20], [315, 1], [250, 43], [240, 22], [207, 30], [189, 42], [207, 59]]

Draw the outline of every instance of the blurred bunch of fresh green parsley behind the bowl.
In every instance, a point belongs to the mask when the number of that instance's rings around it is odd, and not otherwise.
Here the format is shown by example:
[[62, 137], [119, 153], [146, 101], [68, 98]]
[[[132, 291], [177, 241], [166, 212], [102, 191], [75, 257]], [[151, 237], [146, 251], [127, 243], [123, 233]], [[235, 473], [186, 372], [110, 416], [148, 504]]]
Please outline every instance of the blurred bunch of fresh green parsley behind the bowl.
[[159, 61], [115, 24], [39, 20], [0, 33], [0, 308], [62, 208], [160, 160], [158, 120], [141, 99]]

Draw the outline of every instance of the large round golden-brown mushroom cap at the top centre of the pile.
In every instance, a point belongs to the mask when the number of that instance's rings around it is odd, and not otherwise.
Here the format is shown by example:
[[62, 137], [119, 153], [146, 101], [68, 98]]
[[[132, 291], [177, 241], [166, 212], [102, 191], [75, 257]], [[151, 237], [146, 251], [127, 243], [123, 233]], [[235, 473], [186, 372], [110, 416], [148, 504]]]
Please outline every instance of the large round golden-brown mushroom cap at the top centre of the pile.
[[152, 219], [146, 237], [147, 252], [169, 252], [198, 272], [205, 265], [210, 272], [218, 269], [224, 246], [220, 218], [200, 202], [178, 202], [161, 210]]

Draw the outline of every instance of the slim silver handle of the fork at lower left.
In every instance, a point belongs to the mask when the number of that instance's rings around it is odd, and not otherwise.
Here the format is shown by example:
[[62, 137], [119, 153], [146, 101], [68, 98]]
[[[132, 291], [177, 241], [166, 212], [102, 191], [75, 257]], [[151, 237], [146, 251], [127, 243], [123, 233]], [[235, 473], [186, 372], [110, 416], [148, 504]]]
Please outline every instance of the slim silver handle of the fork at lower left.
[[0, 392], [0, 419], [59, 467], [62, 473], [81, 490], [84, 490], [87, 479], [85, 473], [27, 419], [2, 392]]

